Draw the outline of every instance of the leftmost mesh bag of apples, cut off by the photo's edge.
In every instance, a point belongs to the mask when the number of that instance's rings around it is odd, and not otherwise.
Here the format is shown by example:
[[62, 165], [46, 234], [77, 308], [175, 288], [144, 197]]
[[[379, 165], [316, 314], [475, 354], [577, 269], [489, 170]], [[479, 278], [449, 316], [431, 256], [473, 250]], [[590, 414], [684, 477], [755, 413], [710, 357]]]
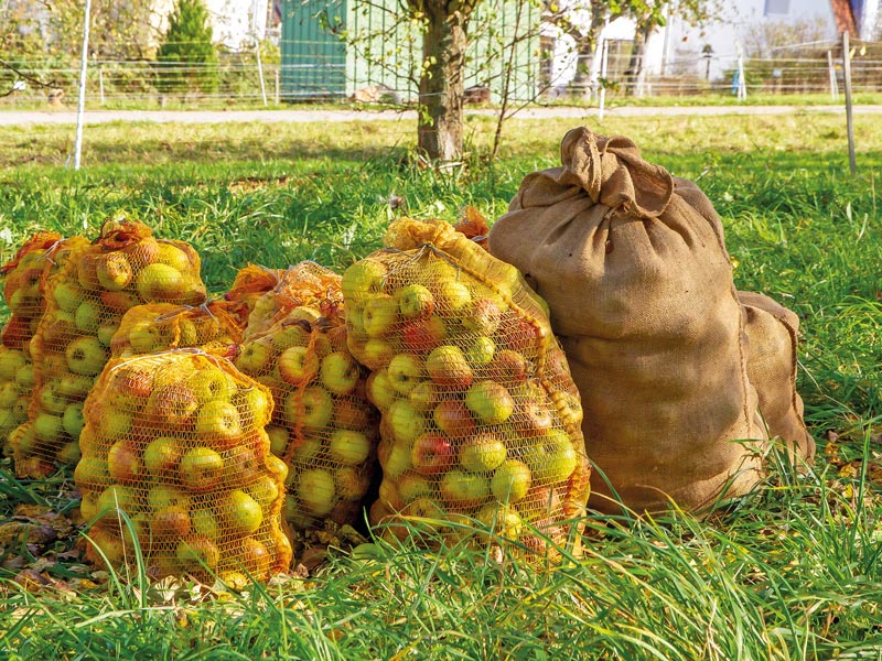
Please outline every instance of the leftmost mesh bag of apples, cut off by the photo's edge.
[[52, 263], [47, 256], [61, 238], [36, 232], [0, 268], [3, 300], [12, 313], [0, 332], [0, 446], [6, 455], [12, 454], [10, 433], [28, 420], [34, 387], [30, 343], [43, 315], [44, 271]]

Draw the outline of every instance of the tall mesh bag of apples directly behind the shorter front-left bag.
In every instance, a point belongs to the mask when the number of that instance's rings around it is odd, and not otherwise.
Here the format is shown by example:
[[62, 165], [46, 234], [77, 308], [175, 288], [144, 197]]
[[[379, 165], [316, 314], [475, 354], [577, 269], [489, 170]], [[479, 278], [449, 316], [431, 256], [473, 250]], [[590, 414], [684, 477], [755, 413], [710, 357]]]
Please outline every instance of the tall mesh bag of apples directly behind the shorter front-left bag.
[[83, 401], [109, 358], [122, 314], [148, 302], [200, 304], [200, 258], [150, 228], [108, 220], [92, 243], [72, 248], [46, 281], [45, 312], [31, 343], [35, 384], [29, 419], [14, 433], [15, 470], [40, 477], [79, 458]]

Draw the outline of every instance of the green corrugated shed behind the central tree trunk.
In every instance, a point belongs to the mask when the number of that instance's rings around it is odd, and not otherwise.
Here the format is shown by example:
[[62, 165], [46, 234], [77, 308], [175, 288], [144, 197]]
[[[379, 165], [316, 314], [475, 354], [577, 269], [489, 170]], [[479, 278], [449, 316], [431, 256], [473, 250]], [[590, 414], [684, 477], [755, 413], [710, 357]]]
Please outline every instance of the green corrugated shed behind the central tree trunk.
[[[370, 85], [416, 98], [422, 35], [416, 23], [399, 20], [399, 0], [282, 0], [281, 98], [349, 97]], [[486, 86], [497, 97], [510, 62], [509, 98], [533, 98], [538, 28], [533, 2], [482, 2], [470, 26], [465, 87]], [[361, 36], [347, 46], [344, 32]]]

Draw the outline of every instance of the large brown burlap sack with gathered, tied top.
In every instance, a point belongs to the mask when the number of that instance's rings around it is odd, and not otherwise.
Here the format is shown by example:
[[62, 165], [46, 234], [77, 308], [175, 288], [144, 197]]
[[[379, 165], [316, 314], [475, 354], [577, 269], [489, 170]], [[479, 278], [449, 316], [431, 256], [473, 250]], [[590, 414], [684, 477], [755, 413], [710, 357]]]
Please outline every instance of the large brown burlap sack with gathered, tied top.
[[637, 511], [745, 492], [766, 435], [717, 214], [626, 138], [571, 130], [561, 160], [524, 180], [490, 250], [548, 301], [600, 468], [590, 507], [617, 511], [612, 490]]

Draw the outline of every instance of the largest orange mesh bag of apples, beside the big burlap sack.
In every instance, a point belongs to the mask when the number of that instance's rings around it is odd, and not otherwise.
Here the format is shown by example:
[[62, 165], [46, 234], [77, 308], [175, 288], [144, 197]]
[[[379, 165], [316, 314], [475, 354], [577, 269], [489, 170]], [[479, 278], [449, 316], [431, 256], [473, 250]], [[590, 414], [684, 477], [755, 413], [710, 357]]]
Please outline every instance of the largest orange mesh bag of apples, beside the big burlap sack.
[[443, 221], [402, 218], [343, 275], [348, 345], [372, 370], [383, 481], [372, 524], [455, 539], [477, 520], [530, 550], [584, 513], [582, 411], [544, 302]]

